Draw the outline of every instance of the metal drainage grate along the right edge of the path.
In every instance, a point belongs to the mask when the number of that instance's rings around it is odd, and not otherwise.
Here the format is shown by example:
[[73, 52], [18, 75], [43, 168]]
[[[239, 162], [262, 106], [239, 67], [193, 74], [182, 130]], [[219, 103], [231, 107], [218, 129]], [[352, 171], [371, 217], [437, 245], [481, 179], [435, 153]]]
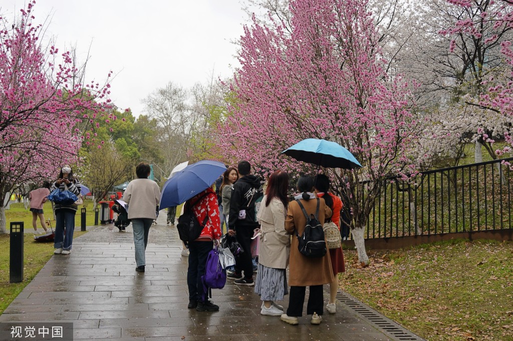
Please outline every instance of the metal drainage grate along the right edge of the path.
[[[329, 285], [324, 285], [324, 291], [329, 294]], [[366, 304], [355, 299], [353, 296], [348, 293], [341, 292], [340, 290], [337, 293], [337, 299], [341, 304], [346, 307], [349, 307], [353, 310], [359, 317], [364, 319], [366, 322], [374, 326], [375, 328], [383, 331], [387, 336], [389, 336], [393, 340], [417, 340], [417, 341], [425, 341], [422, 337], [413, 334], [406, 328], [400, 326], [396, 322], [393, 322], [391, 319], [385, 317], [380, 314], [376, 310], [370, 308]]]

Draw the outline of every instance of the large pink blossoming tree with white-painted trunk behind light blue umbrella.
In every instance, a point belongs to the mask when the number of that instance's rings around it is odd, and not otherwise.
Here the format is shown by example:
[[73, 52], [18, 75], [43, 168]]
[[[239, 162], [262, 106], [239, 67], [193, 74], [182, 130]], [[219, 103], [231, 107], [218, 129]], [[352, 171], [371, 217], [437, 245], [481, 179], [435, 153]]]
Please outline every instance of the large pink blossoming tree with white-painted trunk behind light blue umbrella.
[[326, 172], [348, 198], [363, 264], [374, 199], [387, 177], [415, 174], [411, 151], [421, 135], [412, 84], [384, 70], [377, 27], [366, 8], [359, 0], [294, 0], [290, 22], [270, 15], [265, 25], [253, 20], [245, 27], [241, 68], [232, 84], [236, 100], [217, 139], [228, 163], [247, 159], [292, 175], [305, 165], [280, 152], [302, 139], [323, 138], [348, 148], [363, 167]]

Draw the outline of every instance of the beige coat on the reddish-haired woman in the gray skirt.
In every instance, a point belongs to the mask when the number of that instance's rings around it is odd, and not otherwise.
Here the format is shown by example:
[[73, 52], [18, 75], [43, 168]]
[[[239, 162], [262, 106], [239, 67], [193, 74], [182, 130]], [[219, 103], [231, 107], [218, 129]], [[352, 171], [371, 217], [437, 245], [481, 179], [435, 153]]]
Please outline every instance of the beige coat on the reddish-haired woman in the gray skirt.
[[278, 198], [273, 198], [266, 206], [264, 196], [257, 214], [262, 235], [258, 261], [268, 268], [286, 269], [290, 253], [290, 235], [285, 231], [285, 206]]

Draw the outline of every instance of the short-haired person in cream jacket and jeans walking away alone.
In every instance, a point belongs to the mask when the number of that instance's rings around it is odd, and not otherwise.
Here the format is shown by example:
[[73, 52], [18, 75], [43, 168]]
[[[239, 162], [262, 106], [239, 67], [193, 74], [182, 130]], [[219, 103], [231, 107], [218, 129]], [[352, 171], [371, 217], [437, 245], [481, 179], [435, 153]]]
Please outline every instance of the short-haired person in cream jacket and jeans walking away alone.
[[151, 224], [157, 219], [160, 203], [160, 188], [155, 181], [148, 179], [150, 171], [149, 164], [138, 164], [135, 167], [137, 179], [130, 181], [123, 194], [123, 201], [129, 205], [128, 219], [132, 221], [135, 271], [138, 272], [145, 272], [148, 235]]

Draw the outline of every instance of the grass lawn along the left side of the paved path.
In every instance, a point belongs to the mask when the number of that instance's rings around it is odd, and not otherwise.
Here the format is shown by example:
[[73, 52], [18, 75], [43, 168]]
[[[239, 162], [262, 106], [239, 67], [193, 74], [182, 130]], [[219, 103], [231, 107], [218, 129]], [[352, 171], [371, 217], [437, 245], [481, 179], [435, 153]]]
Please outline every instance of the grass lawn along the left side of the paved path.
[[[92, 208], [92, 203], [89, 200], [86, 202], [86, 207]], [[87, 206], [87, 204], [89, 204]], [[44, 206], [45, 218], [50, 218], [52, 227], [55, 228], [55, 221], [53, 221], [52, 208], [50, 203], [45, 203]], [[6, 211], [7, 230], [9, 230], [10, 222], [23, 221], [25, 230], [33, 231], [32, 227], [32, 212], [25, 210], [23, 203], [11, 204], [11, 209]], [[88, 209], [86, 223], [88, 226], [94, 224], [94, 211]], [[39, 221], [37, 228], [42, 231]], [[80, 211], [77, 212], [75, 219], [75, 232], [74, 237], [83, 235], [85, 232], [80, 231]], [[0, 235], [0, 314], [9, 306], [9, 304], [16, 298], [16, 296], [25, 288], [27, 284], [32, 281], [34, 276], [43, 268], [48, 260], [53, 255], [53, 243], [36, 243], [34, 242], [34, 235], [32, 233], [25, 233], [24, 238], [24, 280], [21, 283], [9, 283], [9, 235]]]

